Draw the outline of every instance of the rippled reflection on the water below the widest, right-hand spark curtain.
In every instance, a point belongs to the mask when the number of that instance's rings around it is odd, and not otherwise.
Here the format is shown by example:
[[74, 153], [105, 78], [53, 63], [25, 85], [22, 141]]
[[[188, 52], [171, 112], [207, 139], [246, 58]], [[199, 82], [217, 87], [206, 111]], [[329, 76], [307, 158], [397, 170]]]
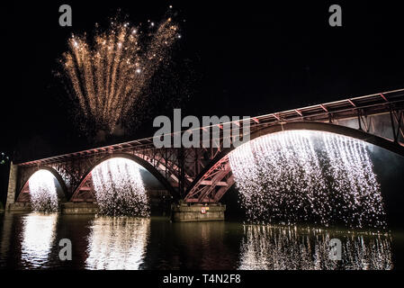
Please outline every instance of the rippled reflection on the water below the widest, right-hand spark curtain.
[[[346, 231], [248, 225], [244, 227], [239, 269], [242, 270], [390, 270], [391, 238]], [[328, 257], [329, 241], [342, 242], [342, 261]]]

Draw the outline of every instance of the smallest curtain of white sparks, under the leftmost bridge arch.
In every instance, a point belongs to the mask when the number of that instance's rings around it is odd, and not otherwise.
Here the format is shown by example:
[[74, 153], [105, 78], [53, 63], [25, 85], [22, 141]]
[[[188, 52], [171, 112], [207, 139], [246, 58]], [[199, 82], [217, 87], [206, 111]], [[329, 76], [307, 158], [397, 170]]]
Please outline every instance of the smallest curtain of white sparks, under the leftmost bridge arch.
[[39, 170], [31, 175], [28, 184], [33, 211], [58, 211], [58, 193], [54, 175], [48, 170]]

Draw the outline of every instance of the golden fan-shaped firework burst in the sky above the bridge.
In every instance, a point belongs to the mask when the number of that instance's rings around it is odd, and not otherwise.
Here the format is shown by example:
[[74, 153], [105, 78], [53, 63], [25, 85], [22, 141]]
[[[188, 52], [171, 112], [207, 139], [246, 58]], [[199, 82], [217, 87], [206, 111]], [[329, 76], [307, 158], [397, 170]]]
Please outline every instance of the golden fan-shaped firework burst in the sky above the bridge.
[[73, 35], [60, 62], [85, 119], [112, 134], [140, 101], [157, 68], [169, 63], [179, 36], [171, 18], [150, 23], [147, 35], [117, 20], [108, 31], [95, 32], [93, 41]]

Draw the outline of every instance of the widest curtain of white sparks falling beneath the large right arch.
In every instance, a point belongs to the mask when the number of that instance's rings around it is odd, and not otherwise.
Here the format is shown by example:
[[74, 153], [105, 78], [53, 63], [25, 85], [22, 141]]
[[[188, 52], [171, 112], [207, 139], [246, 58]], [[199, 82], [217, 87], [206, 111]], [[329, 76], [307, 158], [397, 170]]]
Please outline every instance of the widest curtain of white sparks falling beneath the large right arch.
[[229, 162], [252, 222], [386, 228], [380, 184], [364, 141], [283, 131], [240, 146]]

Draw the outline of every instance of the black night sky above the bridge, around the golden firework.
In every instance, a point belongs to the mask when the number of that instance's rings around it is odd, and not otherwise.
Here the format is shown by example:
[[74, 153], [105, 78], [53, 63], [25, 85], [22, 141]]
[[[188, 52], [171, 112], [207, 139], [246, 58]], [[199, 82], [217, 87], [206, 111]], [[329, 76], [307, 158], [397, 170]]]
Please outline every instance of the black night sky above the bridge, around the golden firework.
[[[150, 121], [175, 107], [254, 116], [404, 87], [404, 21], [395, 2], [218, 2], [9, 5], [1, 19], [0, 150], [22, 161], [97, 146], [77, 131], [53, 71], [72, 32], [91, 35], [94, 23], [107, 28], [118, 8], [137, 24], [158, 22], [173, 5], [182, 39], [167, 76], [175, 88], [166, 90], [182, 100], [153, 103], [138, 130], [112, 142], [152, 136]], [[72, 27], [58, 25], [60, 4], [71, 5]], [[343, 27], [328, 25], [330, 4], [342, 6]]]

